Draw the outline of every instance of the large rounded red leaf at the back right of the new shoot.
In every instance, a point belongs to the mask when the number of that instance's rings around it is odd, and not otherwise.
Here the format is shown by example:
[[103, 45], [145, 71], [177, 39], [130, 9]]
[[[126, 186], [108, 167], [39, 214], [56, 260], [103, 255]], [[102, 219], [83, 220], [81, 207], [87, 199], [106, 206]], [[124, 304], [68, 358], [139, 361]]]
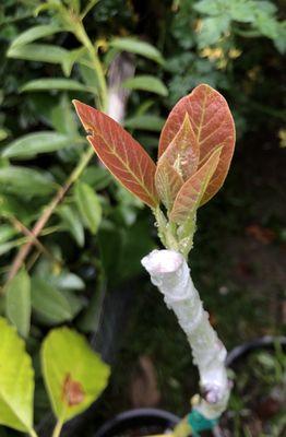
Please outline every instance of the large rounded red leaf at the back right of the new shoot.
[[159, 156], [181, 128], [188, 113], [200, 149], [199, 167], [219, 146], [223, 146], [217, 168], [210, 180], [201, 204], [210, 200], [226, 178], [235, 147], [235, 125], [225, 98], [211, 86], [202, 84], [182, 97], [172, 108], [159, 139]]

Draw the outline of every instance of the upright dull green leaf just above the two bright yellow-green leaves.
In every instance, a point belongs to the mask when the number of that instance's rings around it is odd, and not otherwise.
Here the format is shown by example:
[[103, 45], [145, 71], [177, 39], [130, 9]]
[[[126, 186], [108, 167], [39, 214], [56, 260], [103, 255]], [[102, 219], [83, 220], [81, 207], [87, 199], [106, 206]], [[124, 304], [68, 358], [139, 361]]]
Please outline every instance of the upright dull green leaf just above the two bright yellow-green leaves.
[[31, 281], [24, 269], [8, 283], [5, 312], [17, 332], [27, 338], [31, 324]]

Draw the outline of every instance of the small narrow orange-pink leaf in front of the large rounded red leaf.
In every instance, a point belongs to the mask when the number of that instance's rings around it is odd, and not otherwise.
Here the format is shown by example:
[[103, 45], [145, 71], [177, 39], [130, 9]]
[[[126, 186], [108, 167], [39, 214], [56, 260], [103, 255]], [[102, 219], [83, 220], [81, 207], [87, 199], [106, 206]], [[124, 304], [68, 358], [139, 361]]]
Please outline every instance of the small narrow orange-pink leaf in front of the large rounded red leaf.
[[172, 222], [183, 224], [194, 214], [205, 194], [206, 187], [217, 168], [221, 153], [222, 147], [213, 152], [206, 163], [193, 176], [191, 176], [187, 182], [183, 184], [176, 197], [170, 213], [170, 220]]

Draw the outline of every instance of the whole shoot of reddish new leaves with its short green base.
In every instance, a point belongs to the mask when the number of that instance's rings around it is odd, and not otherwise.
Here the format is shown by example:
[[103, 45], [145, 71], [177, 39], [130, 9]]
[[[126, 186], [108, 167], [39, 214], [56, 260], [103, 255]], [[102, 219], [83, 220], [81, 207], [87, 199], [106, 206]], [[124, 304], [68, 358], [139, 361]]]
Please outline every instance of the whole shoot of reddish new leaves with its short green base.
[[202, 84], [177, 103], [160, 133], [157, 166], [115, 120], [79, 101], [74, 105], [100, 161], [151, 206], [163, 244], [187, 257], [196, 210], [222, 187], [234, 153], [235, 126], [224, 97]]

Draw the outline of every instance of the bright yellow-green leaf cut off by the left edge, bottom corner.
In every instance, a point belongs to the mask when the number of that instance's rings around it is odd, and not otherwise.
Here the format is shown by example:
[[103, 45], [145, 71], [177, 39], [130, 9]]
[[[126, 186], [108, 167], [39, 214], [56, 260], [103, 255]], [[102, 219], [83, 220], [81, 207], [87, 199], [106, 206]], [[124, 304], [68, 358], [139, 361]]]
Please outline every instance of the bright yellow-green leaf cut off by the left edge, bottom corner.
[[15, 329], [0, 318], [0, 424], [29, 432], [33, 427], [34, 370]]

